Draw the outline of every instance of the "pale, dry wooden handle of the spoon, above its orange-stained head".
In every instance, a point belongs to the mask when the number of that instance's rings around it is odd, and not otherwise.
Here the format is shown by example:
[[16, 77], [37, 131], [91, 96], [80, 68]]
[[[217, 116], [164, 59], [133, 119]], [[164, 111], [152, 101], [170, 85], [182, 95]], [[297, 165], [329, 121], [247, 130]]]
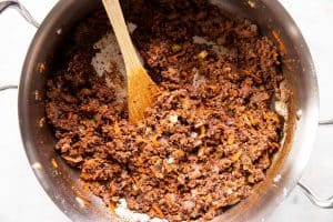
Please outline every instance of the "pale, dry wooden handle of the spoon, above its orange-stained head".
[[142, 68], [142, 64], [138, 59], [135, 49], [129, 34], [119, 0], [102, 0], [102, 2], [118, 40], [118, 44], [125, 63], [127, 74], [134, 73], [137, 69]]

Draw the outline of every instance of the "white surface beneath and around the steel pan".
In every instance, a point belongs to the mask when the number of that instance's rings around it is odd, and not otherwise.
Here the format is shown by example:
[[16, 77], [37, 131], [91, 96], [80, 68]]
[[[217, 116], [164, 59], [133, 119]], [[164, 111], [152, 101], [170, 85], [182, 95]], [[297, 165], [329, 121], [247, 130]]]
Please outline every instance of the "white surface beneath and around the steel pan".
[[[57, 0], [21, 0], [38, 21], [42, 21]], [[281, 0], [300, 26], [313, 54], [321, 92], [321, 118], [333, 117], [332, 0]], [[16, 10], [0, 14], [0, 85], [18, 83], [22, 62], [36, 29]], [[0, 221], [69, 222], [36, 180], [23, 151], [17, 118], [17, 91], [0, 93]], [[315, 191], [333, 194], [333, 127], [321, 128], [311, 161], [302, 181]], [[333, 222], [333, 210], [313, 206], [296, 188], [274, 211], [269, 222]]]

